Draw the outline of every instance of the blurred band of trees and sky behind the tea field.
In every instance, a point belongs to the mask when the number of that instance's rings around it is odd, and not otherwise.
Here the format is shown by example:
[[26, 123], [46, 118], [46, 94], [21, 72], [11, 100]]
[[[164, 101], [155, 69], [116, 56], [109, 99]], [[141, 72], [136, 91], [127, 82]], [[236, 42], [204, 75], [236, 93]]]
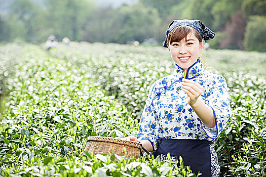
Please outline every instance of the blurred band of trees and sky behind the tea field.
[[200, 19], [213, 49], [266, 52], [264, 0], [0, 0], [0, 41], [162, 45], [173, 19]]

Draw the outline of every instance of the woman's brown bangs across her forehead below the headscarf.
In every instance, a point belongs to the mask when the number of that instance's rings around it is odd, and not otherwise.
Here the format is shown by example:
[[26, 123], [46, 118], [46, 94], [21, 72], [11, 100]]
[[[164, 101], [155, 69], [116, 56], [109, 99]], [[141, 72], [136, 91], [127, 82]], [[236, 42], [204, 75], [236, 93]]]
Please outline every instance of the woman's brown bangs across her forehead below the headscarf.
[[[189, 34], [190, 32], [195, 31], [194, 28], [190, 27], [190, 26], [186, 26], [186, 25], [181, 25], [176, 27], [175, 29], [173, 29], [167, 37], [167, 42], [169, 43], [169, 41], [172, 42], [179, 42], [180, 40], [182, 40], [183, 38], [186, 39], [187, 34]], [[197, 31], [198, 32], [198, 31]], [[199, 32], [198, 32], [199, 33]], [[169, 44], [170, 45], [170, 44]]]

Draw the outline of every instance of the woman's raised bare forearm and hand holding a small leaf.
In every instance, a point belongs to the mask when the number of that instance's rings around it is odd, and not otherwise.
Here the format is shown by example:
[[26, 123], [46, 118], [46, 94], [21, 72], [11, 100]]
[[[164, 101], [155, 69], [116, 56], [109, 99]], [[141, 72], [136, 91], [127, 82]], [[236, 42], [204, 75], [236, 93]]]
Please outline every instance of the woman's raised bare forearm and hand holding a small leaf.
[[197, 82], [189, 79], [183, 79], [182, 90], [188, 96], [188, 104], [191, 105], [192, 109], [196, 112], [201, 121], [210, 128], [214, 127], [215, 118], [212, 108], [200, 99], [200, 96], [203, 92], [203, 87]]

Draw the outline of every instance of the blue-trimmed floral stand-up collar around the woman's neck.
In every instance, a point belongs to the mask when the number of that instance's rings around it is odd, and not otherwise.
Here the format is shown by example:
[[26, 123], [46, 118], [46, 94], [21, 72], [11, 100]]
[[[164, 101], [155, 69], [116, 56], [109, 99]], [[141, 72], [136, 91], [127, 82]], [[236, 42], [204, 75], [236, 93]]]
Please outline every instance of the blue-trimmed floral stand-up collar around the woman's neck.
[[[191, 65], [187, 69], [185, 78], [186, 79], [195, 78], [199, 76], [203, 72], [203, 70], [204, 70], [203, 64], [201, 60], [198, 59], [193, 65]], [[176, 76], [179, 80], [182, 80], [184, 78], [184, 72], [185, 71], [175, 63], [174, 76]]]

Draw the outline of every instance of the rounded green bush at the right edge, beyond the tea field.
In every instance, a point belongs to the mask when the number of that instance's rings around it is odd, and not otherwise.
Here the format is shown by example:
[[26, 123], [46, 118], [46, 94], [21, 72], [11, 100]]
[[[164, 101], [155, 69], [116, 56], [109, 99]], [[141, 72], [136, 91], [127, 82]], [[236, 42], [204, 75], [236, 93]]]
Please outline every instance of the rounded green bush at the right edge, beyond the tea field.
[[265, 16], [252, 16], [246, 27], [244, 46], [247, 51], [266, 52], [266, 25]]

